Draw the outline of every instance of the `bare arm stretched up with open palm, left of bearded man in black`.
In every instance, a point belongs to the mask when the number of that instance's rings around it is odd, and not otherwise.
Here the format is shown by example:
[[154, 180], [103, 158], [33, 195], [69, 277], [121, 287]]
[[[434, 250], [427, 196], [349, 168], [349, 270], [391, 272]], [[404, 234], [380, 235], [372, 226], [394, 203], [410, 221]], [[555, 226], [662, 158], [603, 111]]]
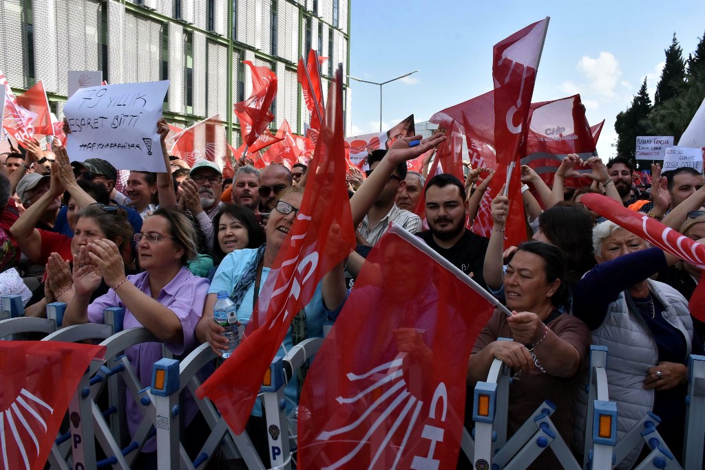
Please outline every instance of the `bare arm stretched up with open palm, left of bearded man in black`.
[[[396, 139], [374, 172], [360, 185], [360, 189], [355, 191], [355, 196], [350, 199], [350, 209], [353, 211], [353, 227], [357, 227], [364, 219], [364, 215], [372, 208], [374, 201], [384, 189], [384, 185], [387, 184], [396, 165], [416, 158], [431, 148], [439, 146], [441, 142], [446, 140], [446, 136], [443, 136], [441, 132], [436, 132], [429, 139], [421, 139], [422, 136], [420, 135]], [[414, 140], [421, 140], [421, 144], [410, 147], [409, 142]]]

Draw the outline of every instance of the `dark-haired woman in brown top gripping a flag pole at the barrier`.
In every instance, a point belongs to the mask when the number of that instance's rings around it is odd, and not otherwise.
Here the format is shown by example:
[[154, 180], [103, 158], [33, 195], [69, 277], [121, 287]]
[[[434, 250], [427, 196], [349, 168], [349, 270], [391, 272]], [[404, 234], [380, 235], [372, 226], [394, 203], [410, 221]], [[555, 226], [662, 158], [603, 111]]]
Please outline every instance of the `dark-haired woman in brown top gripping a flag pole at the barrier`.
[[[504, 291], [507, 317], [494, 312], [477, 336], [467, 366], [468, 386], [487, 378], [495, 359], [517, 373], [510, 385], [510, 434], [526, 421], [544, 400], [558, 410], [551, 418], [570, 443], [573, 405], [580, 372], [588, 359], [590, 333], [579, 319], [558, 307], [568, 301], [565, 262], [560, 250], [540, 241], [522, 243], [507, 266]], [[518, 313], [517, 313], [518, 312]], [[497, 341], [497, 338], [513, 341]], [[529, 468], [559, 468], [552, 452], [544, 452]]]

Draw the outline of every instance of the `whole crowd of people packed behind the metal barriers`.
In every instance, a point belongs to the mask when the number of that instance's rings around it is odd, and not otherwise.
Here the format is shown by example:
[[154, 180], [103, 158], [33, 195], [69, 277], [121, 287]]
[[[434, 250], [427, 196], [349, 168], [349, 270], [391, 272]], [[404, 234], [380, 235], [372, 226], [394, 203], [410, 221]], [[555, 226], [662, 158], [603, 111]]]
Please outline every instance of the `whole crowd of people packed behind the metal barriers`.
[[[3, 155], [0, 293], [20, 294], [25, 315], [35, 317], [45, 315], [47, 303], [66, 303], [66, 325], [102, 322], [104, 307], [124, 307], [125, 327], [144, 326], [174, 355], [205, 342], [220, 354], [227, 340], [212, 318], [216, 294], [228, 292], [238, 320], [249, 321], [300, 210], [308, 169], [303, 163], [291, 169], [272, 164], [259, 171], [246, 158], [233, 174], [208, 160], [189, 166], [168, 155], [164, 120], [157, 130], [166, 172], [132, 171], [124, 192], [117, 190], [118, 172], [109, 162], [71, 162], [58, 144], [44, 150], [32, 141], [23, 143], [26, 151]], [[626, 158], [605, 165], [598, 157], [567, 155], [552, 187], [524, 166], [530, 241], [505, 247], [509, 200], [502, 193], [491, 203], [490, 238], [469, 228], [491, 171], [470, 168], [460, 181], [407, 170], [406, 160], [442, 139], [434, 134], [419, 147], [398, 139], [369, 155], [367, 174], [350, 170], [346, 184], [357, 248], [296, 315], [283, 350], [322, 336], [322, 324], [340, 312], [364, 257], [396, 222], [513, 311], [511, 317], [495, 312], [467, 365], [469, 390], [486, 379], [494, 359], [514, 370], [510, 433], [550, 399], [558, 405], [556, 427], [580, 455], [587, 398], [578, 390], [587, 380], [589, 345], [606, 345], [609, 392], [620, 410], [618, 436], [652, 411], [680, 459], [688, 357], [703, 353], [704, 324], [688, 311], [700, 269], [650, 248], [580, 199], [605, 194], [705, 243], [701, 174], [687, 168], [661, 174], [654, 167], [653, 184], [642, 193], [632, 184], [634, 168]], [[590, 169], [583, 173], [589, 184], [573, 191], [565, 179], [577, 177], [577, 165]], [[425, 224], [415, 213], [421, 196]], [[127, 354], [146, 386], [161, 347], [140, 345]], [[298, 401], [302, 379], [294, 377], [287, 387], [290, 405]], [[188, 430], [196, 408], [187, 402], [185, 409]], [[133, 398], [127, 412], [134, 431], [140, 412]], [[154, 464], [154, 450], [142, 449], [143, 468]], [[629, 468], [643, 452], [637, 448], [622, 466]], [[552, 458], [544, 452], [534, 466], [555, 468]]]

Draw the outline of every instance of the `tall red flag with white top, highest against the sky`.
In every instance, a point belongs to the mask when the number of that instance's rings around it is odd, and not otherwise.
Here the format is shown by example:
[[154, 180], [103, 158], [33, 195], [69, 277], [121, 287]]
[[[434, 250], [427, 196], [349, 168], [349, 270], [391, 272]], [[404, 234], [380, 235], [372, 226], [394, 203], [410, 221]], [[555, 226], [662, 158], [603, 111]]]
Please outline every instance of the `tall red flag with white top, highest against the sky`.
[[548, 18], [515, 32], [494, 45], [494, 138], [497, 161], [509, 165], [525, 131]]

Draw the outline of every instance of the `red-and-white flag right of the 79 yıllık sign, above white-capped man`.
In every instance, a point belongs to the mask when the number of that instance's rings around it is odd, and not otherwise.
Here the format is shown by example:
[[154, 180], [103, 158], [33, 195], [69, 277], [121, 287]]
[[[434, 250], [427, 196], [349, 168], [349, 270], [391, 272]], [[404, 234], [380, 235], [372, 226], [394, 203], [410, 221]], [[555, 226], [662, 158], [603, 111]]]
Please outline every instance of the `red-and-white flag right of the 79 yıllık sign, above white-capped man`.
[[219, 115], [204, 119], [167, 138], [171, 155], [193, 165], [196, 160], [210, 160], [221, 169], [232, 167], [226, 129]]

